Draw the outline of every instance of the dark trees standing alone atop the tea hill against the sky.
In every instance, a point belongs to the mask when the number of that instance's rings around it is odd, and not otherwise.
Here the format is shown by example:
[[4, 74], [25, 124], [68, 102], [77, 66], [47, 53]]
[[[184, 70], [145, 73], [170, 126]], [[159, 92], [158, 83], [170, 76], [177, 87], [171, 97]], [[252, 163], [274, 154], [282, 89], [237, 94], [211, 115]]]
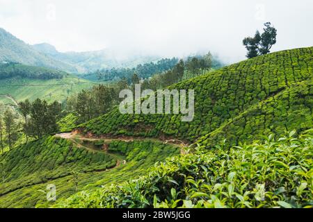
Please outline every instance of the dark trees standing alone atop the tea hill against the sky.
[[271, 22], [266, 22], [264, 26], [264, 33], [260, 34], [259, 31], [257, 31], [254, 37], [246, 37], [243, 39], [243, 45], [248, 50], [247, 58], [269, 53], [273, 44], [276, 43], [276, 28], [271, 25]]

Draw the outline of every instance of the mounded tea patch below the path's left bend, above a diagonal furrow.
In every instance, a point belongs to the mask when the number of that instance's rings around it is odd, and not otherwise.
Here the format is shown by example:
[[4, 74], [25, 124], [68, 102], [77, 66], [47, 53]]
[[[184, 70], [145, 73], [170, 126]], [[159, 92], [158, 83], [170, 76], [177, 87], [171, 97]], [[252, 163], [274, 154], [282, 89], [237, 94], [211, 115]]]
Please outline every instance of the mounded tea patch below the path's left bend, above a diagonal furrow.
[[[106, 153], [93, 153], [85, 148], [78, 148], [70, 140], [57, 137], [44, 137], [29, 144], [24, 144], [5, 153], [1, 157], [4, 162], [1, 170], [5, 172], [5, 180], [9, 182], [40, 173], [40, 178], [53, 178], [71, 170], [106, 169], [115, 166], [116, 161]], [[25, 178], [24, 178], [25, 179]], [[36, 182], [36, 181], [33, 181]], [[10, 187], [12, 188], [12, 187]]]

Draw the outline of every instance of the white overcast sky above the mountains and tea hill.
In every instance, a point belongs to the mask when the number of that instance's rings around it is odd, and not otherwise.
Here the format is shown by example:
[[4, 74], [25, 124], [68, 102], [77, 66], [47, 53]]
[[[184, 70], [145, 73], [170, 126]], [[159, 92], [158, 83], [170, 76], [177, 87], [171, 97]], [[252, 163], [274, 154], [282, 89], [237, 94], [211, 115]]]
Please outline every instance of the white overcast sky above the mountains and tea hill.
[[243, 60], [242, 39], [278, 29], [273, 51], [312, 46], [312, 0], [0, 0], [0, 27], [58, 51], [186, 56], [211, 50]]

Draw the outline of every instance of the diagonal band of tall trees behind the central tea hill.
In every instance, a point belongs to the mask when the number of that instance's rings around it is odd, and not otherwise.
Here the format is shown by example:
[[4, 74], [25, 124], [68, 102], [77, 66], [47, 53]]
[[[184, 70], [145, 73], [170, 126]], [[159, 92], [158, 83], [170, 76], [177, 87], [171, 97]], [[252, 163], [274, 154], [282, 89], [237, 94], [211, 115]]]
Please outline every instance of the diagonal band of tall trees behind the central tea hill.
[[97, 85], [90, 90], [83, 89], [78, 94], [67, 98], [66, 107], [68, 112], [76, 112], [79, 122], [83, 123], [112, 110], [114, 105], [120, 103], [119, 94], [122, 89], [134, 90], [134, 85], [141, 83], [142, 89], [161, 89], [178, 83], [184, 78], [192, 78], [204, 74], [211, 69], [212, 56], [207, 53], [205, 56], [188, 58], [186, 61], [179, 60], [177, 64], [160, 74], [143, 79], [136, 72], [131, 74], [129, 79], [122, 78], [117, 83], [110, 85]]

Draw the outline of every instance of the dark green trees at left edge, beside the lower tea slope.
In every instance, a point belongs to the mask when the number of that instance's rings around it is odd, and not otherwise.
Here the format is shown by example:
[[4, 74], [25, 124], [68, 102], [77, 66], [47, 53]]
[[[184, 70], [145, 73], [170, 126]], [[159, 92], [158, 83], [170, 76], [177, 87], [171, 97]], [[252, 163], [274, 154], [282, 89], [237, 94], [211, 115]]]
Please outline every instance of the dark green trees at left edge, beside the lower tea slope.
[[[8, 107], [0, 114], [0, 147], [12, 149], [19, 139], [40, 138], [58, 131], [58, 120], [63, 117], [61, 103], [48, 104], [36, 99], [33, 103], [26, 100], [18, 104], [18, 111]], [[24, 119], [24, 120], [22, 120]]]

